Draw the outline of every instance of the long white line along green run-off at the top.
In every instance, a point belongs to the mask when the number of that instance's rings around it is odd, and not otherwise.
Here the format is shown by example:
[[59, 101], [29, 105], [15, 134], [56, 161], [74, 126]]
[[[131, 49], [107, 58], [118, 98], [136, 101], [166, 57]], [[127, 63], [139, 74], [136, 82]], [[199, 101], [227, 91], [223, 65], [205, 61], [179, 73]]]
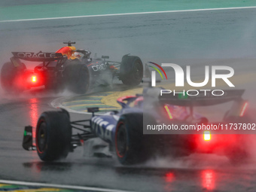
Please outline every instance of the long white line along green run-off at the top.
[[126, 13], [126, 14], [97, 14], [97, 15], [82, 15], [82, 16], [72, 16], [72, 17], [48, 17], [48, 18], [24, 19], [24, 20], [0, 20], [0, 23], [35, 21], [35, 20], [64, 20], [64, 19], [84, 18], [84, 17], [109, 17], [109, 16], [122, 16], [122, 15], [135, 15], [135, 14], [164, 14], [164, 13], [178, 13], [178, 12], [192, 12], [192, 11], [236, 10], [236, 9], [250, 9], [250, 8], [256, 8], [256, 6], [239, 7], [239, 8], [190, 9], [190, 10], [176, 10], [176, 11], [149, 11], [149, 12], [138, 12], [138, 13]]

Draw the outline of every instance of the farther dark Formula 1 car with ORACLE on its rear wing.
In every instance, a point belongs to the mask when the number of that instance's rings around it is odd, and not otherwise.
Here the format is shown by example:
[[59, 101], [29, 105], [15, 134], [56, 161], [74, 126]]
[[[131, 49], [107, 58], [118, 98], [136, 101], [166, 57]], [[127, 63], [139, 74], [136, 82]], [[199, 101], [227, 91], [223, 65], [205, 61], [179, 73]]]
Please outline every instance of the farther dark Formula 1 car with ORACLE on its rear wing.
[[[77, 50], [66, 42], [56, 53], [12, 52], [11, 62], [5, 62], [1, 70], [1, 85], [7, 92], [21, 92], [31, 87], [47, 89], [68, 88], [74, 93], [86, 93], [100, 84], [112, 84], [114, 77], [123, 84], [135, 86], [143, 77], [142, 60], [138, 56], [125, 55], [121, 62], [107, 61], [109, 56], [90, 58], [89, 50]], [[39, 62], [34, 70], [26, 69], [22, 62]]]

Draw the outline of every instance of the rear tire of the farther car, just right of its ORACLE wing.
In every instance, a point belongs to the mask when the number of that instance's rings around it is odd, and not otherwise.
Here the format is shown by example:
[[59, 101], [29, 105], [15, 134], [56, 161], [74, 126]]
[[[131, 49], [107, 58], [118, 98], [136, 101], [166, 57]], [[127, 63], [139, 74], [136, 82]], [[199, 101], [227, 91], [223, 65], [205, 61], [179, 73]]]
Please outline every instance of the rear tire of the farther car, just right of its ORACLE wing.
[[90, 86], [90, 74], [86, 65], [71, 63], [63, 72], [66, 86], [74, 93], [87, 93]]

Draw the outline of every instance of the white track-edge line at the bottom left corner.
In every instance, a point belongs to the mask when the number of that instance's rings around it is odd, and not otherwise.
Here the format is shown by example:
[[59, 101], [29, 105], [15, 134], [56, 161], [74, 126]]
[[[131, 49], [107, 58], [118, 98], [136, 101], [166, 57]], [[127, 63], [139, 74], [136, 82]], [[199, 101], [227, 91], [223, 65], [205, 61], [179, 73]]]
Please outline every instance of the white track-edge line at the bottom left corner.
[[2, 184], [17, 184], [17, 185], [26, 185], [33, 187], [54, 187], [54, 188], [64, 188], [72, 190], [90, 190], [90, 191], [102, 191], [102, 192], [131, 192], [131, 190], [114, 190], [114, 189], [105, 189], [100, 187], [83, 187], [75, 185], [65, 185], [65, 184], [45, 184], [45, 183], [34, 183], [26, 181], [9, 181], [9, 180], [0, 180]]

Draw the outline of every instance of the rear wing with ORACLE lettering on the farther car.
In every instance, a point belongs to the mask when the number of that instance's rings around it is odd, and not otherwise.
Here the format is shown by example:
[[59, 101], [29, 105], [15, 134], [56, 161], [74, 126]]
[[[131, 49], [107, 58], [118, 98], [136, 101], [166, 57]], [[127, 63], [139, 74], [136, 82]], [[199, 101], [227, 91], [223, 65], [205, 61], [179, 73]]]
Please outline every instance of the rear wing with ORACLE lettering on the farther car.
[[11, 52], [14, 55], [14, 58], [23, 59], [26, 61], [32, 62], [50, 62], [64, 59], [66, 56], [63, 56], [62, 53], [33, 53], [33, 52]]

